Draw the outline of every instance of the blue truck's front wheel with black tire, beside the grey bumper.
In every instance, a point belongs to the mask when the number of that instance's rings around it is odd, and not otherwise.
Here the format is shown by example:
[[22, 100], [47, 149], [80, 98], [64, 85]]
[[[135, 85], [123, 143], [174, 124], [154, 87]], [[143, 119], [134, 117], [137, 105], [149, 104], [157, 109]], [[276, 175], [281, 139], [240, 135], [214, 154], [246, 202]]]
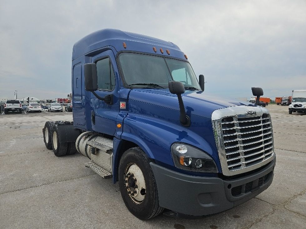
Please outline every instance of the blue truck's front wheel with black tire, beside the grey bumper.
[[127, 150], [119, 163], [119, 187], [129, 211], [139, 219], [160, 214], [158, 192], [150, 159], [139, 147]]

